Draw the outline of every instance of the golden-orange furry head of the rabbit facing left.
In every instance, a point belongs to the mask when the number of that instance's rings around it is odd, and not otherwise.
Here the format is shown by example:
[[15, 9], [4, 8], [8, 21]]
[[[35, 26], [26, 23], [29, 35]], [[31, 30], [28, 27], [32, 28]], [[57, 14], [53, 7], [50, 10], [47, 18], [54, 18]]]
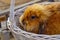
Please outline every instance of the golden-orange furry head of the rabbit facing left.
[[48, 17], [45, 11], [44, 6], [40, 4], [28, 6], [19, 18], [20, 24], [23, 26], [24, 30], [39, 33], [40, 24]]

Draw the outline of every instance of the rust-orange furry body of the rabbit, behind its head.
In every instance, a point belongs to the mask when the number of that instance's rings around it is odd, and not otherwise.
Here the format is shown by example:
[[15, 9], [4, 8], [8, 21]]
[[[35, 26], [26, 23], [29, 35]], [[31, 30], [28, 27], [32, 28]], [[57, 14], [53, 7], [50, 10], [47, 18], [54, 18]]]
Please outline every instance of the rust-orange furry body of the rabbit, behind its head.
[[[44, 34], [60, 34], [60, 3], [51, 4], [53, 7], [47, 8], [51, 14], [44, 25]], [[50, 5], [50, 6], [51, 6]], [[48, 7], [48, 6], [46, 6]]]

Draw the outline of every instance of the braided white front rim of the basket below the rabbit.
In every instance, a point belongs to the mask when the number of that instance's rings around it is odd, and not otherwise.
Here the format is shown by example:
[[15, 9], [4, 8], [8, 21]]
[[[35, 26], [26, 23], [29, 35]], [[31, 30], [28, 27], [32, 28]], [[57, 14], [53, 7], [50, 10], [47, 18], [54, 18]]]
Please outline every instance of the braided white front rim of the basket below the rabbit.
[[[10, 25], [11, 24], [9, 24], [8, 29], [11, 32], [13, 32], [15, 34], [18, 34], [18, 35], [22, 35], [22, 36], [27, 37], [27, 38], [33, 38], [33, 39], [37, 39], [37, 38], [40, 38], [40, 37], [42, 37], [42, 38], [49, 38], [49, 39], [50, 38], [56, 38], [56, 39], [58, 39], [58, 37], [60, 38], [60, 35], [35, 34], [35, 33], [30, 33], [30, 32], [26, 32], [24, 30], [21, 30], [19, 27], [18, 27], [18, 29], [14, 29], [14, 27], [12, 28]], [[19, 33], [17, 33], [15, 30], [19, 31]], [[37, 37], [37, 38], [34, 38], [34, 37]]]

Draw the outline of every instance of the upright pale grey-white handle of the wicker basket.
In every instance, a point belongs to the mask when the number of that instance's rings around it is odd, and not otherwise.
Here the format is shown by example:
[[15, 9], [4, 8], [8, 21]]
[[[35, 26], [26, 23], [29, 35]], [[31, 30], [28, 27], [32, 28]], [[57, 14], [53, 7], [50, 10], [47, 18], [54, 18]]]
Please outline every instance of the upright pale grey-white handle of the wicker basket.
[[14, 6], [15, 6], [15, 0], [11, 0], [11, 4], [10, 4], [10, 15], [9, 15], [9, 20], [11, 22], [11, 26], [15, 26], [15, 20], [14, 20]]

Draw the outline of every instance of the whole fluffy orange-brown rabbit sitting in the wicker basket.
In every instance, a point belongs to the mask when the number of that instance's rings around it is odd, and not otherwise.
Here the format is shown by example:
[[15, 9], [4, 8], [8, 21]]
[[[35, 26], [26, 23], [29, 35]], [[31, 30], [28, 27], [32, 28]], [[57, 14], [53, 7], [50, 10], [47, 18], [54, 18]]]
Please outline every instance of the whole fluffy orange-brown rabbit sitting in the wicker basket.
[[60, 3], [30, 5], [19, 18], [19, 22], [28, 32], [60, 34]]

